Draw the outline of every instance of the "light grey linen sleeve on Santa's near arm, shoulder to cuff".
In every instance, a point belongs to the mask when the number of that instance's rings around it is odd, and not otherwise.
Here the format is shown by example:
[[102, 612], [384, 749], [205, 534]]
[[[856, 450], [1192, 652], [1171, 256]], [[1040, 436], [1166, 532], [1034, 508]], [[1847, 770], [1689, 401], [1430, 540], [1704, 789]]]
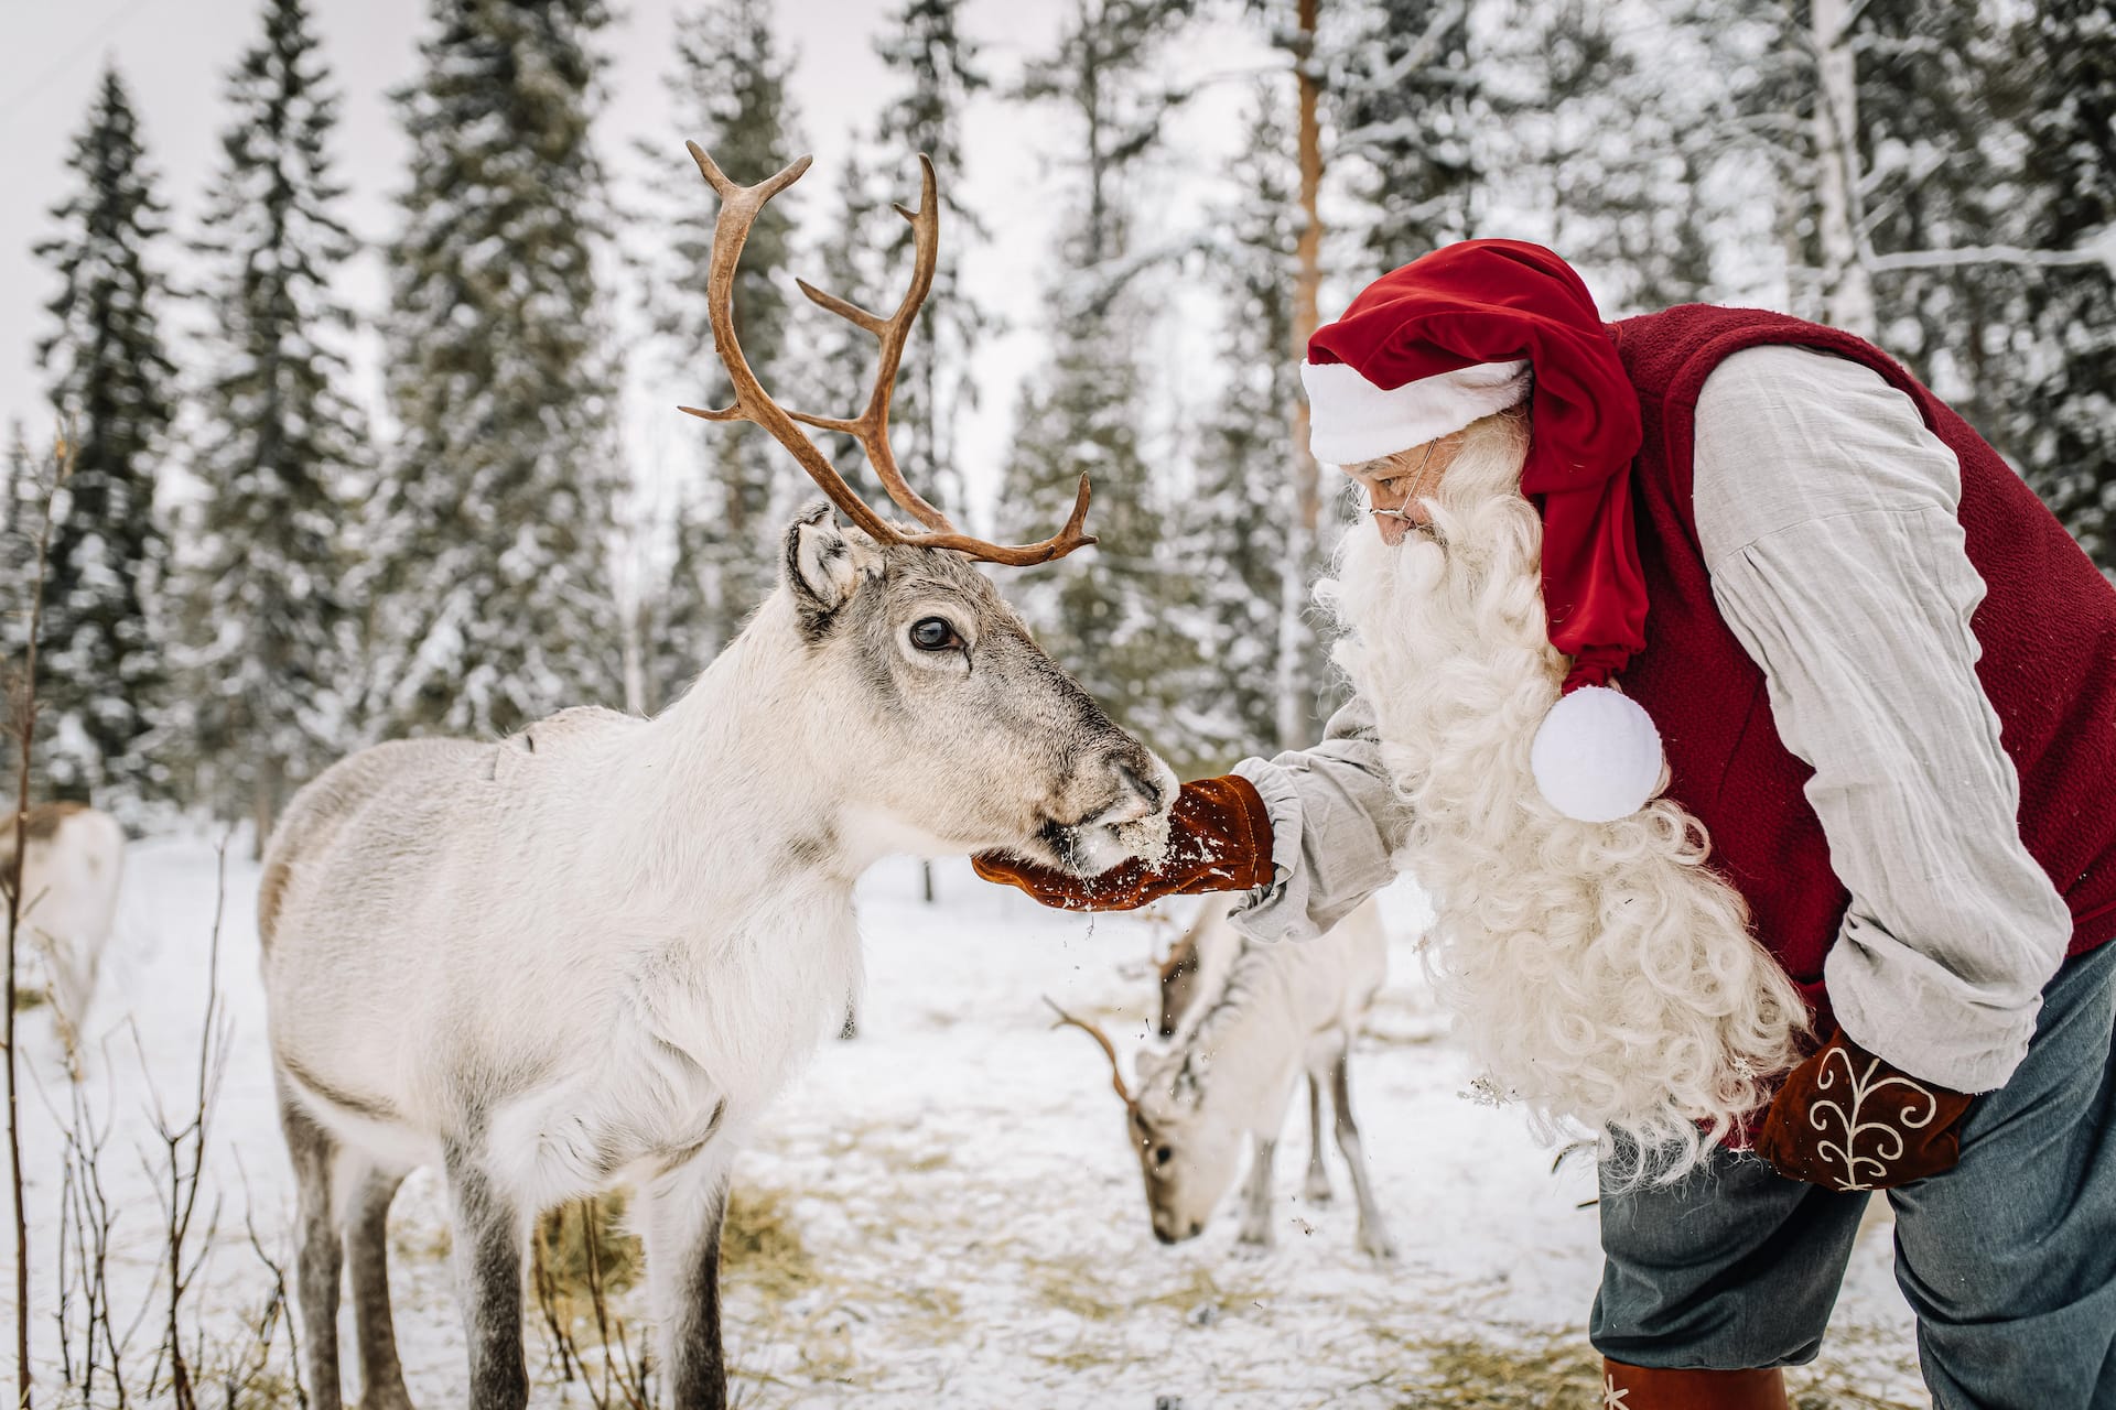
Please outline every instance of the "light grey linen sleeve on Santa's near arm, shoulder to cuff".
[[1976, 681], [1985, 583], [1959, 497], [1955, 454], [1871, 368], [1748, 349], [1697, 397], [1712, 594], [1816, 769], [1807, 801], [1852, 892], [1824, 962], [1837, 1019], [1904, 1072], [1976, 1093], [2027, 1053], [2072, 915], [2021, 841], [2019, 776]]

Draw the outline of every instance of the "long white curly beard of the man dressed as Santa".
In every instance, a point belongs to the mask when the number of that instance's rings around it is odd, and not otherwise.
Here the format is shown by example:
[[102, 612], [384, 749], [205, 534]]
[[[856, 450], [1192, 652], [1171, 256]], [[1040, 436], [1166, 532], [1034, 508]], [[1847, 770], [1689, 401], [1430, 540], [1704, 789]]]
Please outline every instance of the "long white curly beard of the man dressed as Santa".
[[1805, 1006], [1686, 810], [1574, 822], [1536, 791], [1528, 750], [1566, 657], [1524, 450], [1517, 414], [1471, 427], [1435, 533], [1388, 548], [1361, 522], [1320, 594], [1405, 803], [1399, 860], [1437, 913], [1426, 968], [1479, 1084], [1545, 1135], [1627, 1137], [1619, 1177], [1676, 1180], [1769, 1097]]

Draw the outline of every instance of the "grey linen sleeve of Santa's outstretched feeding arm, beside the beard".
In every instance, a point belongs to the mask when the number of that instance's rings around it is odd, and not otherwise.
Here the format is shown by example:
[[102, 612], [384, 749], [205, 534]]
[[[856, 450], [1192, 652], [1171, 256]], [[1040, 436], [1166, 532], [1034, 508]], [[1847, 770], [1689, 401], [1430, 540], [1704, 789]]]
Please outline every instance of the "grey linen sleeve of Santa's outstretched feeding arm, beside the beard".
[[1373, 712], [1356, 695], [1314, 748], [1242, 759], [1234, 772], [1257, 786], [1272, 814], [1276, 869], [1270, 886], [1236, 905], [1236, 930], [1259, 941], [1308, 941], [1397, 877], [1388, 824], [1394, 791]]

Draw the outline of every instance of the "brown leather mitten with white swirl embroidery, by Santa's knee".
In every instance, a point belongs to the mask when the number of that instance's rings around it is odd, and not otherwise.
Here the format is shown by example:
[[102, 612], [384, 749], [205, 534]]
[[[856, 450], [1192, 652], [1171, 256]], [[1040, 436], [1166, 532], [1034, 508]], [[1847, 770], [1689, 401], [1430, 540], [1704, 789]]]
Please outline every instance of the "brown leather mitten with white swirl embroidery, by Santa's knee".
[[1756, 1154], [1788, 1180], [1887, 1190], [1953, 1169], [1968, 1110], [1962, 1093], [1892, 1068], [1839, 1029], [1786, 1076]]

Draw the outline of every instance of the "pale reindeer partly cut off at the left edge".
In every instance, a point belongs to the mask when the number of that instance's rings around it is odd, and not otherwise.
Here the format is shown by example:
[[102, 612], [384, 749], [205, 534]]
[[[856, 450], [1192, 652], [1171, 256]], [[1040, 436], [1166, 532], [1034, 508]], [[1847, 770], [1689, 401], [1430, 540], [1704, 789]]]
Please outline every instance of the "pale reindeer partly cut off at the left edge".
[[[42, 956], [53, 1025], [66, 1061], [78, 1061], [80, 1025], [118, 913], [125, 829], [87, 803], [30, 808], [21, 854], [21, 928]], [[15, 875], [15, 814], [0, 822], [0, 884]]]

